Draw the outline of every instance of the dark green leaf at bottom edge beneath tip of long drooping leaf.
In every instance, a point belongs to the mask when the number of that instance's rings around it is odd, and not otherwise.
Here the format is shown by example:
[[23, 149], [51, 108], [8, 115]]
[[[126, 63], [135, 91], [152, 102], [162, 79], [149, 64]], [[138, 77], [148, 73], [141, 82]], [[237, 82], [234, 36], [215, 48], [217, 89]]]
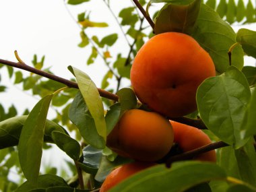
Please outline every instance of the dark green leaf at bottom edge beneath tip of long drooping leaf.
[[54, 186], [68, 187], [65, 180], [62, 179], [61, 177], [53, 174], [42, 174], [38, 177], [38, 183], [36, 187], [32, 186], [30, 182], [26, 181], [20, 187], [18, 187], [18, 189], [16, 189], [15, 192], [30, 191], [36, 188], [46, 189], [48, 187], [54, 187]]

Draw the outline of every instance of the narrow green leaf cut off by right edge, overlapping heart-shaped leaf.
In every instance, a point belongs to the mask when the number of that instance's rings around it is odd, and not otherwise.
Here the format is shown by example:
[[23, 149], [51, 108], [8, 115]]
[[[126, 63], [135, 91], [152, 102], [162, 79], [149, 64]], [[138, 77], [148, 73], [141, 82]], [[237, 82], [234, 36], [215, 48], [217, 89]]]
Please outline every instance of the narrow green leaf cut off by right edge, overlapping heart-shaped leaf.
[[252, 94], [251, 100], [247, 106], [245, 119], [243, 121], [243, 126], [242, 126], [242, 133], [243, 133], [243, 137], [245, 137], [245, 138], [256, 135], [255, 115], [256, 115], [256, 91], [253, 90], [253, 94]]

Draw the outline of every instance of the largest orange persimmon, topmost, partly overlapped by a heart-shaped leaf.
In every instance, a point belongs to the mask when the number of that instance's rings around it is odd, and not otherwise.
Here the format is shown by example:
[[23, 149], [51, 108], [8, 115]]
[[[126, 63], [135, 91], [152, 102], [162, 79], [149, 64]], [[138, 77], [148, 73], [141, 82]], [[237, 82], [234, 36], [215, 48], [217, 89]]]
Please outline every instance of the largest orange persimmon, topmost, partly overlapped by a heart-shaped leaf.
[[168, 117], [197, 109], [195, 94], [216, 75], [210, 55], [187, 34], [165, 32], [143, 44], [131, 67], [131, 85], [139, 100]]

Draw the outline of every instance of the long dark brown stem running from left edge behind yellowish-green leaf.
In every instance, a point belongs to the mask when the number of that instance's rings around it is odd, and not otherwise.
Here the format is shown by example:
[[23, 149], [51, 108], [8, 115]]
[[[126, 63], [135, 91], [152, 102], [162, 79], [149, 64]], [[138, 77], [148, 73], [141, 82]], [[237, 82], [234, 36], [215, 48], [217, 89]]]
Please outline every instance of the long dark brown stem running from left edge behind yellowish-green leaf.
[[[19, 69], [24, 69], [25, 71], [30, 71], [32, 73], [35, 73], [37, 75], [41, 75], [42, 77], [46, 77], [48, 79], [53, 79], [56, 82], [60, 82], [62, 84], [65, 84], [69, 88], [78, 88], [77, 83], [75, 83], [75, 82], [71, 82], [71, 81], [69, 81], [67, 79], [64, 79], [62, 77], [58, 77], [58, 76], [53, 75], [51, 73], [47, 73], [45, 71], [38, 70], [38, 69], [36, 69], [34, 67], [30, 67], [29, 65], [26, 65], [26, 64], [15, 63], [15, 62], [7, 61], [7, 60], [4, 60], [4, 59], [0, 59], [0, 63], [2, 63], [4, 65], [9, 65], [11, 67], [16, 67], [16, 68], [19, 68]], [[98, 88], [98, 92], [100, 93], [100, 96], [102, 96], [104, 98], [108, 98], [110, 100], [115, 100], [115, 101], [118, 101], [118, 99], [119, 99], [116, 94], [107, 92], [107, 91], [102, 90], [100, 88]]]

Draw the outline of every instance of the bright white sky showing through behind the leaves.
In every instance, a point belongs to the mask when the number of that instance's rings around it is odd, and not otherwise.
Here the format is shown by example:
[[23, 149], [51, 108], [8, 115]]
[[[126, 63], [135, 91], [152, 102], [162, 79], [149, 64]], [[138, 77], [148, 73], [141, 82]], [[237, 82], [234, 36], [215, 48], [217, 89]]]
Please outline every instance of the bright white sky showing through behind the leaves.
[[[111, 1], [116, 3], [117, 0]], [[120, 0], [118, 1], [120, 2]], [[122, 1], [121, 7], [115, 6], [115, 14], [123, 6], [131, 6], [131, 0]], [[119, 4], [120, 6], [120, 4]], [[68, 11], [68, 10], [69, 11]], [[129, 47], [127, 46], [120, 29], [115, 22], [113, 15], [110, 14], [102, 0], [93, 0], [90, 3], [84, 3], [78, 6], [67, 5], [63, 0], [8, 0], [0, 1], [0, 58], [10, 61], [16, 61], [13, 51], [17, 50], [22, 60], [32, 65], [32, 57], [38, 55], [46, 56], [44, 67], [52, 66], [51, 70], [55, 75], [69, 79], [73, 77], [68, 71], [67, 66], [73, 65], [88, 73], [92, 80], [100, 87], [101, 79], [106, 71], [101, 59], [96, 60], [96, 65], [86, 65], [91, 50], [80, 49], [77, 44], [80, 42], [80, 29], [73, 20], [77, 18], [77, 13], [83, 11], [92, 11], [91, 19], [96, 22], [108, 22], [108, 28], [90, 30], [90, 35], [106, 36], [114, 32], [119, 33], [119, 41], [113, 46], [113, 51], [121, 51], [127, 55]], [[72, 16], [73, 15], [73, 18]], [[251, 30], [256, 30], [255, 26], [245, 26]], [[238, 30], [241, 26], [235, 27]], [[111, 53], [112, 49], [110, 49]], [[115, 55], [115, 52], [113, 52]], [[255, 65], [253, 59], [245, 61], [247, 65]], [[20, 69], [16, 69], [18, 71]], [[6, 70], [5, 70], [6, 71]], [[2, 72], [1, 72], [2, 74]], [[26, 72], [26, 74], [28, 74]], [[6, 107], [14, 104], [19, 110], [32, 108], [38, 98], [23, 92], [19, 86], [13, 86], [5, 75], [1, 77], [0, 84], [8, 87], [6, 93], [0, 92], [0, 101]], [[50, 110], [50, 116], [51, 112]], [[58, 151], [58, 150], [57, 150]], [[51, 159], [55, 159], [53, 164], [61, 164], [60, 153], [51, 153]], [[50, 161], [50, 158], [44, 157], [44, 162]]]

